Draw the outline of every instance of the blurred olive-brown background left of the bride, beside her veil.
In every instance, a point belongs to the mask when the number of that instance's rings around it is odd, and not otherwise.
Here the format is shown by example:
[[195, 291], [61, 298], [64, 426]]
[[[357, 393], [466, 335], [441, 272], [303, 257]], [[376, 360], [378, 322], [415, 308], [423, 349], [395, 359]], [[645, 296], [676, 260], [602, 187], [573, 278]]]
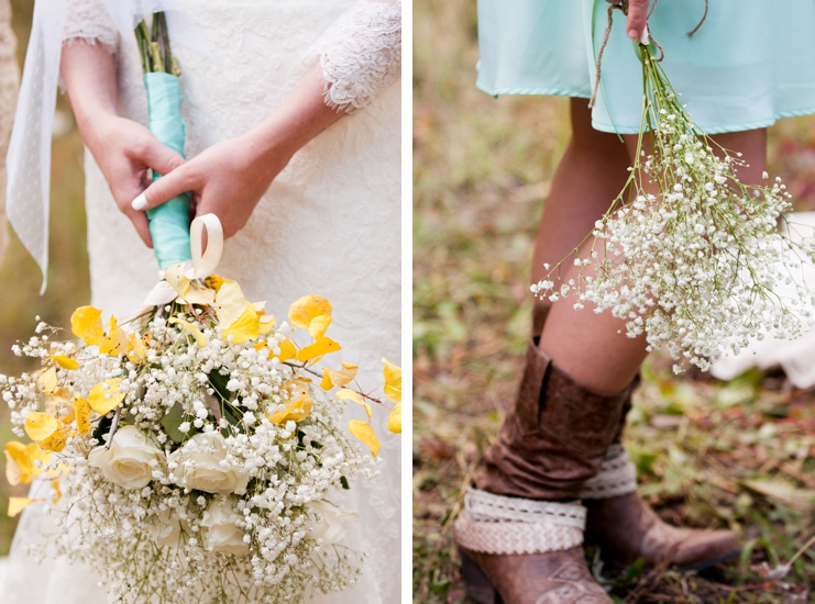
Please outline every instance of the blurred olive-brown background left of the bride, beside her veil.
[[[12, 26], [18, 38], [18, 56], [23, 64], [33, 2], [12, 0]], [[57, 103], [67, 132], [55, 136], [52, 157], [51, 195], [51, 267], [48, 289], [40, 297], [41, 273], [20, 241], [9, 227], [9, 246], [0, 266], [0, 373], [19, 374], [33, 368], [32, 359], [18, 358], [11, 346], [27, 339], [40, 315], [58, 326], [70, 325], [70, 314], [90, 300], [88, 251], [85, 228], [85, 177], [82, 143], [70, 119], [67, 98]], [[15, 439], [9, 426], [9, 413], [0, 405], [0, 446]], [[12, 488], [0, 477], [0, 555], [5, 555], [16, 526], [16, 518], [7, 516], [9, 495], [24, 496], [27, 485]]]

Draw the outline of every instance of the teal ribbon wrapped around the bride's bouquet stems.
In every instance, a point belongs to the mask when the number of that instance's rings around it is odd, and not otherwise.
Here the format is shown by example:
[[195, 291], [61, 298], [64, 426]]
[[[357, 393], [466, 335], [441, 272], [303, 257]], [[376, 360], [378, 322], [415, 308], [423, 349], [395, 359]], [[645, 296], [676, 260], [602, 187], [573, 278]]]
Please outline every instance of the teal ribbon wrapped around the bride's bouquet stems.
[[[187, 127], [181, 121], [178, 77], [172, 74], [145, 74], [144, 87], [147, 89], [150, 131], [162, 144], [184, 157]], [[153, 181], [161, 177], [154, 172]], [[153, 251], [162, 270], [192, 258], [189, 249], [190, 202], [190, 194], [184, 193], [147, 210]]]

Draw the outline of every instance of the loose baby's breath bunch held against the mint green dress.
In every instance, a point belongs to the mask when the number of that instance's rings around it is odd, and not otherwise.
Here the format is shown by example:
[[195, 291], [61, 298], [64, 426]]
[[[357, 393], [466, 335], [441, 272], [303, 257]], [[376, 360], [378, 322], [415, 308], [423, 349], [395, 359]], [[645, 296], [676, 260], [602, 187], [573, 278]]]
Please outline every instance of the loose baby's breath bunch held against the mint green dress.
[[[629, 337], [645, 333], [649, 350], [667, 345], [675, 360], [703, 370], [751, 337], [801, 335], [814, 323], [815, 295], [802, 270], [814, 250], [784, 233], [792, 227], [786, 188], [779, 178], [741, 183], [741, 154], [705, 136], [653, 46], [637, 48], [643, 109], [628, 182], [595, 224], [594, 245], [576, 251], [577, 278], [560, 279], [563, 261], [547, 266], [532, 292], [552, 302], [573, 297], [575, 309], [612, 309]], [[773, 290], [791, 282], [795, 297]]]

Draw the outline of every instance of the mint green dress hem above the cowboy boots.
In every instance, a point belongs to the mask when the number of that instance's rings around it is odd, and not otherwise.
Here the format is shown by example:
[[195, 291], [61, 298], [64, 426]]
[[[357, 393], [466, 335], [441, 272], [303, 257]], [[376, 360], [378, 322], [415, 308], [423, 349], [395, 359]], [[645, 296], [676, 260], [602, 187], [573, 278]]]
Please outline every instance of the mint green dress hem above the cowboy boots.
[[[477, 86], [498, 94], [588, 99], [607, 25], [604, 0], [478, 0]], [[815, 1], [661, 0], [649, 29], [662, 66], [707, 134], [766, 127], [815, 113]], [[592, 123], [639, 132], [642, 70], [614, 11]]]

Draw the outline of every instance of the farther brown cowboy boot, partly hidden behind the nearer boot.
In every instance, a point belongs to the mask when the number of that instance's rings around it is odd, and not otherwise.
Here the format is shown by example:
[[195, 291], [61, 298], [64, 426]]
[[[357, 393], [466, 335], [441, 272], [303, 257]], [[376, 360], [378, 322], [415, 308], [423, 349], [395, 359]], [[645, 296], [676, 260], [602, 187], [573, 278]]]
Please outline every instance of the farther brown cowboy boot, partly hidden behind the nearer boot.
[[[543, 331], [548, 314], [548, 305], [535, 304], [535, 335]], [[738, 556], [740, 547], [729, 530], [673, 527], [637, 495], [637, 470], [620, 445], [630, 410], [629, 398], [599, 472], [580, 495], [587, 511], [585, 543], [597, 545], [604, 562], [613, 569], [626, 568], [642, 558], [649, 567], [672, 563], [702, 570]]]

